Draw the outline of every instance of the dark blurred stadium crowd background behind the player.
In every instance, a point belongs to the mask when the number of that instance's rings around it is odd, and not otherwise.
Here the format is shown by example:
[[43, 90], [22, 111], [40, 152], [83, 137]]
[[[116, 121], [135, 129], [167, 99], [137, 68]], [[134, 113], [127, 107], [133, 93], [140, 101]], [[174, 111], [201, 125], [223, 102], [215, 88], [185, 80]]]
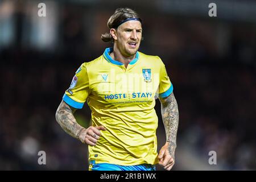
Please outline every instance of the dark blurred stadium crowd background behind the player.
[[[38, 16], [40, 2], [46, 17]], [[210, 2], [217, 17], [208, 15]], [[253, 0], [0, 0], [0, 169], [88, 169], [88, 147], [61, 129], [55, 111], [77, 68], [111, 46], [100, 37], [118, 7], [141, 15], [139, 51], [160, 56], [174, 85], [180, 123], [173, 169], [255, 170]], [[160, 148], [159, 101], [155, 109]], [[89, 126], [88, 105], [75, 116]], [[46, 165], [38, 164], [38, 151], [46, 152]], [[209, 151], [217, 165], [209, 164]]]

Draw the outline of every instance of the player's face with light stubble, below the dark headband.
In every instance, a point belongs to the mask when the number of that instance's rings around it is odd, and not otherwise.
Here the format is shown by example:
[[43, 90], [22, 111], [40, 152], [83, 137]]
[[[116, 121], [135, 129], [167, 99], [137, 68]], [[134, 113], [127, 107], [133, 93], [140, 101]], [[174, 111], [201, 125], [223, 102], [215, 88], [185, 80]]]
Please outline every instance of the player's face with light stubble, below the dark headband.
[[123, 56], [133, 56], [139, 49], [142, 38], [141, 22], [130, 20], [121, 24], [116, 31], [115, 44]]

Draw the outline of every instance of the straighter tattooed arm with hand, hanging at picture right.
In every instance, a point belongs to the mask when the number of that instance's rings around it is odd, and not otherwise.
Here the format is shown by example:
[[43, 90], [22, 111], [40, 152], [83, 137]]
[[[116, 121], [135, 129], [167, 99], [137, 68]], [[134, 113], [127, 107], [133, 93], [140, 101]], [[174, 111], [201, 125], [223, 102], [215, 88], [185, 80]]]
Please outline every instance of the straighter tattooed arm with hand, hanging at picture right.
[[159, 164], [168, 171], [171, 170], [175, 162], [176, 135], [179, 125], [179, 110], [177, 101], [172, 92], [166, 98], [159, 98], [161, 102], [161, 113], [166, 130], [166, 144], [159, 151]]

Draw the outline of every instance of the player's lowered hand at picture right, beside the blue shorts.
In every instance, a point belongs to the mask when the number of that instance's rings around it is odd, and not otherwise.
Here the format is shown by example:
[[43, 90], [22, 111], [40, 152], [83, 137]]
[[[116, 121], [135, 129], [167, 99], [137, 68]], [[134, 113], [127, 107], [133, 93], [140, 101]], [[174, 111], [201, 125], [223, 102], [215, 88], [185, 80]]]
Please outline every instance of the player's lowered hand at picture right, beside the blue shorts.
[[169, 148], [169, 143], [166, 142], [166, 144], [159, 151], [158, 155], [159, 165], [168, 171], [172, 169], [175, 163], [174, 154], [170, 154]]

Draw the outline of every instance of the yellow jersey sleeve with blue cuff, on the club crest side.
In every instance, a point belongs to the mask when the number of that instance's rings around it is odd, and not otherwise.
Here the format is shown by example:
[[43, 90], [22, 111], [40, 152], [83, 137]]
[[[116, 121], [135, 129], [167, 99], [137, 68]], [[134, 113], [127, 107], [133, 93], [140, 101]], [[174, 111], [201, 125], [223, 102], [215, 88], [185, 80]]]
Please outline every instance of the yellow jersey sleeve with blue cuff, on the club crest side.
[[164, 65], [163, 61], [160, 59], [159, 88], [158, 88], [159, 97], [161, 98], [168, 97], [170, 96], [173, 90], [174, 90], [174, 86], [172, 86], [170, 78], [167, 75], [166, 66]]

